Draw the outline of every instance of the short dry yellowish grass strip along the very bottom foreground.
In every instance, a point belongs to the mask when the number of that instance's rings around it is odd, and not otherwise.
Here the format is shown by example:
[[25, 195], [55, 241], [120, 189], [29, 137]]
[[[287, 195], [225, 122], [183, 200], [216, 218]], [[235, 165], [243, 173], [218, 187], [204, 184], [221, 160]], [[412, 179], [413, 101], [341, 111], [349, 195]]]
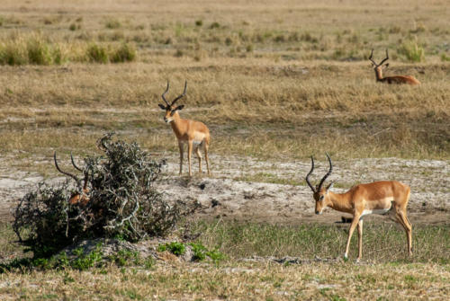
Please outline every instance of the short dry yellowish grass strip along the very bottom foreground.
[[0, 275], [4, 300], [446, 300], [447, 266], [233, 262]]

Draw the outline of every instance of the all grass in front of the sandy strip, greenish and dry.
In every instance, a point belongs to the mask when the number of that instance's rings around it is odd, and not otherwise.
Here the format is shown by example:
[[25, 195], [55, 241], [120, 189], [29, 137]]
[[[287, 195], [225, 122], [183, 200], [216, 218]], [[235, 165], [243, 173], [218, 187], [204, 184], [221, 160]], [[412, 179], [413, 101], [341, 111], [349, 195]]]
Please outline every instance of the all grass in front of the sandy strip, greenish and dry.
[[[112, 263], [84, 271], [13, 270], [0, 274], [0, 294], [6, 299], [31, 300], [444, 300], [450, 293], [448, 225], [414, 227], [415, 253], [409, 258], [400, 229], [391, 224], [366, 224], [364, 261], [359, 264], [354, 261], [356, 239], [349, 261], [314, 261], [341, 255], [347, 226], [242, 225], [220, 221], [200, 222], [193, 229], [202, 233], [199, 242], [218, 248], [226, 259], [198, 263], [158, 261], [149, 265]], [[2, 237], [12, 238], [9, 226], [2, 226], [0, 231]], [[14, 252], [7, 244], [10, 243], [1, 245], [2, 261]], [[306, 261], [280, 264], [242, 260], [286, 255]]]

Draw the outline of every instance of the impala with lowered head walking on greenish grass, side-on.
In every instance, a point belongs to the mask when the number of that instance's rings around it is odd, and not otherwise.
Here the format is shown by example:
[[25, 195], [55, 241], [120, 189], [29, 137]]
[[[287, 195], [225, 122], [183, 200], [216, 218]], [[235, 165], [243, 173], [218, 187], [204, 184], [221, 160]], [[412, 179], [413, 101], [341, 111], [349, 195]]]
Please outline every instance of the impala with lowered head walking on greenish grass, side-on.
[[[327, 154], [329, 158], [329, 155]], [[367, 184], [359, 184], [345, 193], [334, 193], [329, 189], [331, 182], [326, 188], [322, 185], [333, 171], [333, 165], [329, 158], [329, 172], [320, 180], [319, 185], [314, 188], [310, 182], [310, 175], [314, 170], [314, 159], [311, 156], [311, 171], [306, 175], [306, 182], [310, 186], [313, 197], [316, 200], [316, 214], [321, 214], [326, 207], [353, 215], [353, 221], [348, 232], [347, 247], [344, 258], [348, 258], [348, 248], [356, 225], [358, 226], [358, 258], [363, 255], [363, 217], [369, 214], [386, 214], [395, 212], [397, 221], [403, 226], [408, 242], [408, 252], [412, 254], [411, 247], [411, 224], [406, 216], [406, 207], [410, 199], [410, 187], [400, 181], [374, 181]]]

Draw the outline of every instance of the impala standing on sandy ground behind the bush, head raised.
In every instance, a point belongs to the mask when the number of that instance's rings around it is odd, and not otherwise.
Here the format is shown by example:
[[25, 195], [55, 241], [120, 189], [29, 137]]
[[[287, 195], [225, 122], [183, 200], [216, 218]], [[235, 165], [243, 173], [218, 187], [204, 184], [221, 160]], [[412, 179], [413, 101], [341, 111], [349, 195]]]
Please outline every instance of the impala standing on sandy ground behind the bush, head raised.
[[180, 149], [180, 174], [183, 173], [183, 148], [184, 144], [187, 144], [187, 161], [189, 164], [189, 176], [192, 176], [191, 172], [191, 154], [193, 148], [198, 156], [199, 172], [202, 173], [202, 155], [200, 154], [200, 147], [203, 147], [204, 159], [206, 161], [206, 168], [208, 175], [210, 173], [210, 161], [208, 159], [208, 147], [210, 146], [210, 130], [200, 121], [184, 120], [178, 114], [178, 111], [184, 108], [184, 105], [175, 106], [175, 102], [181, 99], [186, 93], [187, 81], [184, 83], [184, 92], [175, 97], [175, 99], [169, 104], [166, 101], [166, 93], [169, 89], [169, 83], [167, 81], [166, 91], [161, 95], [164, 104], [159, 103], [159, 108], [166, 111], [164, 121], [170, 123], [174, 130], [175, 136], [178, 139], [178, 147]]

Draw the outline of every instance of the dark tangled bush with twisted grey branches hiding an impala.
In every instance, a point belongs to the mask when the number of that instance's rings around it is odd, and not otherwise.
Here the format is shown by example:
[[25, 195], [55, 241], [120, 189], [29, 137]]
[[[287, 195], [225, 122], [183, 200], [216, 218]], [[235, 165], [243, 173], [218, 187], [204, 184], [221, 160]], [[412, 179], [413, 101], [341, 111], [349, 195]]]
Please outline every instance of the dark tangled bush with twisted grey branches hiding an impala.
[[135, 242], [163, 236], [197, 208], [196, 202], [162, 198], [153, 183], [165, 163], [152, 159], [136, 142], [113, 140], [107, 134], [98, 140], [98, 147], [103, 155], [85, 157], [80, 168], [88, 173], [87, 202], [68, 202], [74, 193], [83, 193], [81, 181], [76, 189], [67, 181], [55, 186], [41, 183], [15, 209], [14, 232], [35, 256], [49, 256], [86, 238]]

